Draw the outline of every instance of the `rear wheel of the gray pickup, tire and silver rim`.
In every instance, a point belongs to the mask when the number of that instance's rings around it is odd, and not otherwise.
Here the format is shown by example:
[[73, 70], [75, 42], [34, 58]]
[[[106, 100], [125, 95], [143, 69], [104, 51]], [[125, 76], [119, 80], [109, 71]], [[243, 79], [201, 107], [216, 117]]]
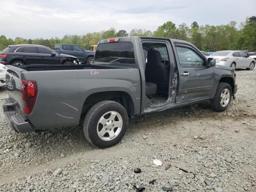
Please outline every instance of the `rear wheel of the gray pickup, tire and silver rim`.
[[117, 144], [128, 127], [125, 108], [114, 101], [96, 103], [84, 118], [84, 135], [94, 146], [107, 148]]

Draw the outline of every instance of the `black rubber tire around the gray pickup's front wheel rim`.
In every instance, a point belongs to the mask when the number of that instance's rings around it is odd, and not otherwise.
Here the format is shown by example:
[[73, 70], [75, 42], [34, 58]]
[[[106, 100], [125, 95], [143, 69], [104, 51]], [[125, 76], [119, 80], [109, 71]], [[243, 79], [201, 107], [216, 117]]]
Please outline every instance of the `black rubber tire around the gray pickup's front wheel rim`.
[[[229, 90], [230, 98], [229, 98], [228, 104], [226, 106], [222, 106], [220, 102], [220, 96], [225, 89]], [[219, 83], [214, 98], [210, 100], [212, 109], [218, 112], [225, 111], [230, 104], [231, 98], [232, 98], [232, 89], [230, 87], [230, 84], [222, 83], [222, 82]]]

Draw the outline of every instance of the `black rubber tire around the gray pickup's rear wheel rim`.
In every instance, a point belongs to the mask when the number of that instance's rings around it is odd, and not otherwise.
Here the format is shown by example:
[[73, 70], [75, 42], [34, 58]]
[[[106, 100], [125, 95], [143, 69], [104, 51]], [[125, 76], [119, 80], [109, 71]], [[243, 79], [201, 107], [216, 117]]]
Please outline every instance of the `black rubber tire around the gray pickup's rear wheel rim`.
[[[97, 133], [98, 121], [100, 118], [110, 112], [118, 112], [122, 117], [122, 129], [119, 134], [112, 140], [106, 141], [102, 140]], [[126, 129], [128, 127], [128, 115], [125, 108], [114, 101], [106, 100], [96, 103], [90, 110], [87, 112], [84, 118], [84, 135], [86, 139], [94, 146], [98, 148], [107, 148], [117, 144], [124, 136]], [[104, 129], [104, 128], [102, 128]]]

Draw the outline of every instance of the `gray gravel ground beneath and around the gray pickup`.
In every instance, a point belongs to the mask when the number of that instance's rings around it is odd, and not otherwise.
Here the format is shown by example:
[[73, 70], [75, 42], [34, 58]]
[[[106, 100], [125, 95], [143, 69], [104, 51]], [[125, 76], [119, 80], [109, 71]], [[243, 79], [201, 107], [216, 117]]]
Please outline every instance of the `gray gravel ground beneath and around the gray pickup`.
[[81, 128], [16, 134], [0, 102], [0, 191], [134, 192], [140, 183], [145, 192], [255, 192], [256, 70], [238, 70], [237, 84], [226, 112], [204, 102], [138, 116], [119, 144], [103, 150]]

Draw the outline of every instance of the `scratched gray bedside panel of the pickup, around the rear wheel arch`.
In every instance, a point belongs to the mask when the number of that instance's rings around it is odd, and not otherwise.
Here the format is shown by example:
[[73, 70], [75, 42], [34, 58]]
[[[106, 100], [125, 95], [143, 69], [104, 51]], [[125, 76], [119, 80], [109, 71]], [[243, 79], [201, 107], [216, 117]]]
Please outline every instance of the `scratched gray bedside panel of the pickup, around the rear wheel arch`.
[[35, 129], [78, 125], [84, 101], [96, 92], [127, 92], [135, 113], [140, 112], [138, 69], [24, 71], [22, 79], [35, 80], [38, 87], [34, 108], [26, 115]]

